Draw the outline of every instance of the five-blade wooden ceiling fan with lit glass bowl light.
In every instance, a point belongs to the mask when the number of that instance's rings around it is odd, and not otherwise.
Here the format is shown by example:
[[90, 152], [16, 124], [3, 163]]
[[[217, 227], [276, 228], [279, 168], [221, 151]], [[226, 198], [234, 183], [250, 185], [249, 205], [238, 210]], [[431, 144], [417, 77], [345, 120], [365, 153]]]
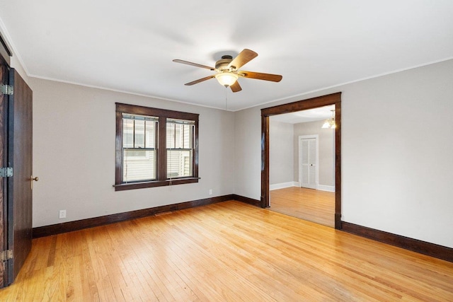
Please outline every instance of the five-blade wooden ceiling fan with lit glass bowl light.
[[253, 50], [245, 49], [241, 51], [234, 59], [229, 55], [222, 56], [222, 59], [219, 59], [219, 61], [215, 62], [215, 68], [180, 59], [174, 59], [173, 62], [217, 71], [216, 74], [213, 74], [211, 76], [206, 76], [205, 78], [185, 83], [184, 85], [187, 86], [216, 78], [217, 81], [219, 81], [220, 85], [231, 88], [231, 91], [233, 92], [238, 92], [242, 90], [239, 82], [237, 81], [239, 77], [280, 82], [282, 80], [282, 76], [280, 76], [279, 74], [262, 74], [260, 72], [239, 70], [243, 65], [247, 64], [257, 56], [258, 54], [256, 52], [253, 52]]

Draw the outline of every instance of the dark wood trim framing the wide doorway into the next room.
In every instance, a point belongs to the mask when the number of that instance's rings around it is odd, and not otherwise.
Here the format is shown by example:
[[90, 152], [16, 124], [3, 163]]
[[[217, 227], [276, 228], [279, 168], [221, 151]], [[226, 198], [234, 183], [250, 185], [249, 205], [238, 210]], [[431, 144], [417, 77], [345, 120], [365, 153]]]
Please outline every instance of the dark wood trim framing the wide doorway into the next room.
[[269, 207], [269, 117], [335, 105], [335, 228], [341, 229], [341, 93], [261, 109], [261, 207]]

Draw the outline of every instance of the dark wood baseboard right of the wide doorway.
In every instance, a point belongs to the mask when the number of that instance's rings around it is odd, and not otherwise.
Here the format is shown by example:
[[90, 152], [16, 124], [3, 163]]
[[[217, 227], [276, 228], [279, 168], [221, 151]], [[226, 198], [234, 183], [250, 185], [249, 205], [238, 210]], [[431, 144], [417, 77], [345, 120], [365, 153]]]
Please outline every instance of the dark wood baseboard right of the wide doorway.
[[442, 260], [453, 262], [453, 248], [437, 245], [435, 243], [428, 243], [426, 241], [408, 238], [393, 233], [375, 230], [374, 228], [367, 228], [366, 226], [359, 226], [354, 223], [341, 221], [341, 231], [352, 233], [358, 236], [366, 237], [372, 240], [395, 245], [398, 248], [412, 250], [420, 254], [436, 257]]

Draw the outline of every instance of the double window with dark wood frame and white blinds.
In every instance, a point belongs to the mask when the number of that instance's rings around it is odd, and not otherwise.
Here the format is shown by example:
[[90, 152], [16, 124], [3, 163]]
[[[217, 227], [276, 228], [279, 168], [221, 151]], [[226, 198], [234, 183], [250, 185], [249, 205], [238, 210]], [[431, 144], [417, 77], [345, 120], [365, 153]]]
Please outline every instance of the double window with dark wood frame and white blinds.
[[198, 182], [198, 115], [116, 103], [115, 190]]

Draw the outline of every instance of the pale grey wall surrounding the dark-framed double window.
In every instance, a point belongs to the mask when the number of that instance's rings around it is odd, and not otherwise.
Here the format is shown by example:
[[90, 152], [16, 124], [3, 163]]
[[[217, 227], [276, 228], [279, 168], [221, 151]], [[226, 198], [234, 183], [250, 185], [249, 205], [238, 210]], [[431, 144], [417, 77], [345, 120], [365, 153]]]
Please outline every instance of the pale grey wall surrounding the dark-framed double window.
[[[234, 192], [234, 113], [30, 78], [33, 227]], [[200, 114], [200, 182], [115, 192], [115, 102]], [[209, 190], [213, 190], [212, 196]], [[59, 219], [60, 209], [67, 219]]]

